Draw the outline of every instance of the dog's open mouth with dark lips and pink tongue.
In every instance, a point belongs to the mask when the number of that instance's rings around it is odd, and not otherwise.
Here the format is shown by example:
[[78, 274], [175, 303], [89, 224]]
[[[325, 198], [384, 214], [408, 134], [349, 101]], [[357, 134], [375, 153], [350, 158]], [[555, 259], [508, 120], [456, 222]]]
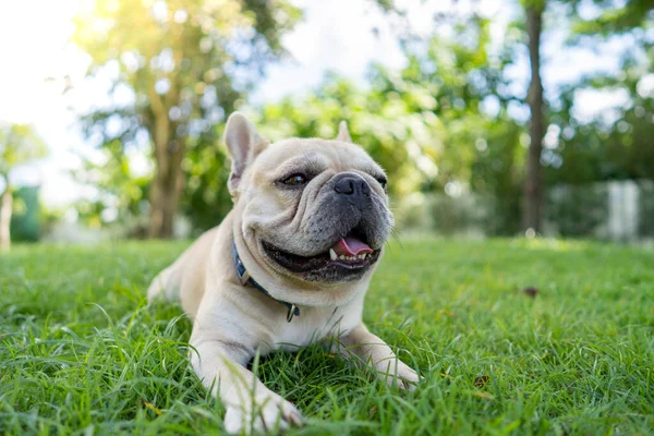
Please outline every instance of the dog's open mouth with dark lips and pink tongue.
[[344, 276], [364, 272], [379, 258], [380, 250], [373, 250], [362, 232], [356, 230], [341, 238], [328, 251], [315, 256], [300, 256], [262, 241], [264, 251], [272, 261], [291, 272], [340, 272]]

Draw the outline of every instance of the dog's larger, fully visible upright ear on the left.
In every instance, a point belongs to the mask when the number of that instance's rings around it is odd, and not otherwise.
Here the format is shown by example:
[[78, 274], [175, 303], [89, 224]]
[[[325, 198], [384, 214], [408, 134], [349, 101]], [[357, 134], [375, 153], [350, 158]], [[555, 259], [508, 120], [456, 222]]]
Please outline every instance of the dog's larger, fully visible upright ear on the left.
[[239, 187], [243, 171], [254, 158], [262, 153], [269, 141], [264, 138], [257, 131], [252, 121], [243, 113], [234, 112], [227, 120], [225, 128], [225, 143], [232, 160], [232, 171], [229, 175], [227, 187], [233, 196]]

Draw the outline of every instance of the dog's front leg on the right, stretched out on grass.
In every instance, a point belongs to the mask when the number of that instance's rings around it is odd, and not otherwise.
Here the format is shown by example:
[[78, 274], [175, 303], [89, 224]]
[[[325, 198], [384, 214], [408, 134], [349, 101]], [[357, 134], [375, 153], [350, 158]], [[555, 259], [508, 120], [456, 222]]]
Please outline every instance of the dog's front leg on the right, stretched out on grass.
[[400, 361], [390, 347], [360, 324], [349, 334], [340, 338], [340, 352], [347, 358], [358, 356], [377, 372], [389, 386], [397, 382], [402, 389], [412, 389], [419, 376], [407, 364]]

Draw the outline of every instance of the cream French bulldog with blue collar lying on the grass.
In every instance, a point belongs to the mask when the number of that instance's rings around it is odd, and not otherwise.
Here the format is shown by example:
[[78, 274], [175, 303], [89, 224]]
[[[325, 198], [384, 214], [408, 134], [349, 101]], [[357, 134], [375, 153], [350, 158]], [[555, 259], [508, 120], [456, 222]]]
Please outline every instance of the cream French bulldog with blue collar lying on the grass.
[[[336, 338], [388, 384], [416, 373], [362, 323], [363, 300], [392, 225], [382, 168], [352, 144], [270, 144], [233, 113], [225, 133], [234, 207], [150, 284], [148, 299], [180, 300], [193, 318], [191, 362], [220, 395], [230, 433], [283, 429], [300, 412], [246, 365], [257, 350], [295, 350]], [[332, 346], [334, 347], [334, 346]]]

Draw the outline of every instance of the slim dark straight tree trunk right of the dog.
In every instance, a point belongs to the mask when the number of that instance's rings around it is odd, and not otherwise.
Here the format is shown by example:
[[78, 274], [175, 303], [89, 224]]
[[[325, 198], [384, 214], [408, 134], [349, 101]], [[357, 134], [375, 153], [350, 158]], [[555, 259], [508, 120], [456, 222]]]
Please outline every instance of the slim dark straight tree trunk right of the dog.
[[532, 229], [535, 232], [542, 231], [543, 222], [544, 186], [541, 171], [541, 153], [543, 150], [545, 120], [540, 49], [544, 9], [544, 1], [541, 7], [530, 5], [525, 8], [529, 57], [531, 64], [531, 83], [528, 94], [528, 102], [531, 109], [531, 122], [529, 128], [531, 142], [526, 156], [522, 227], [525, 231]]

